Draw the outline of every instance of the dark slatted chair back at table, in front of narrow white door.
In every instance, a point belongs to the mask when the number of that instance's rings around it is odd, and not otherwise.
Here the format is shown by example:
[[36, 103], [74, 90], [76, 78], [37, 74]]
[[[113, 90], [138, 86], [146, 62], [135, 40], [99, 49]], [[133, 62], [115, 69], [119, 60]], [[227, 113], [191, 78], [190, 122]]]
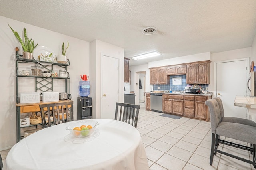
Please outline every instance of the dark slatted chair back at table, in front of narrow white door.
[[116, 102], [115, 120], [128, 121], [129, 124], [137, 128], [139, 111], [140, 105]]

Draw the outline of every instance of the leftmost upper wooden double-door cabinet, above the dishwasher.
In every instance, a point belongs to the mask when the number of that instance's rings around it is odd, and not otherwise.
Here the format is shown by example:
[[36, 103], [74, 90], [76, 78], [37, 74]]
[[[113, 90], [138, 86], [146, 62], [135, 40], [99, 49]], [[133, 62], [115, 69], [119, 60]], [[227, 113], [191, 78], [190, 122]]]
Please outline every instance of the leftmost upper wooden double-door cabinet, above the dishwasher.
[[170, 77], [166, 75], [166, 67], [150, 69], [150, 84], [169, 84]]

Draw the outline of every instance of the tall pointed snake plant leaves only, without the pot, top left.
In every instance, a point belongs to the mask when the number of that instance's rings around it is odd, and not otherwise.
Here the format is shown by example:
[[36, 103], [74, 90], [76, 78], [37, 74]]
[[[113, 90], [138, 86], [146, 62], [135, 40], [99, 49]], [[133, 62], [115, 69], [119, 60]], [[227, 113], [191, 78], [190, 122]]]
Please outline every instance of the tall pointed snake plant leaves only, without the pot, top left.
[[38, 43], [36, 45], [34, 45], [34, 40], [29, 39], [27, 37], [27, 31], [26, 28], [24, 28], [24, 39], [25, 42], [20, 38], [20, 35], [18, 34], [18, 32], [14, 31], [12, 29], [12, 27], [8, 24], [8, 26], [11, 28], [14, 36], [18, 39], [18, 41], [20, 42], [22, 49], [24, 52], [29, 52], [29, 53], [33, 53], [34, 48], [38, 45]]

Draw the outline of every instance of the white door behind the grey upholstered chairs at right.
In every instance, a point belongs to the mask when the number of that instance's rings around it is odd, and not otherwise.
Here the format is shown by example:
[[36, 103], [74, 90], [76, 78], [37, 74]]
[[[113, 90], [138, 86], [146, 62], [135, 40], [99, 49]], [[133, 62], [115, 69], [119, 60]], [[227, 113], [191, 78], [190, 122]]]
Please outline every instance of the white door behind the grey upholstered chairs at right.
[[248, 59], [215, 62], [215, 96], [222, 99], [224, 116], [246, 119], [246, 108], [234, 106], [235, 97], [246, 95]]

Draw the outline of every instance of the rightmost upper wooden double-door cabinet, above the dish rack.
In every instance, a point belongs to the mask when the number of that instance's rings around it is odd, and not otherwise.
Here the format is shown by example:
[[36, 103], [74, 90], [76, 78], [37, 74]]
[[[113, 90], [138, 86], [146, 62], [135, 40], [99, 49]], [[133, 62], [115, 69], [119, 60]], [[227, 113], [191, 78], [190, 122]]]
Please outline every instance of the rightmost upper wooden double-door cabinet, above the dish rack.
[[210, 61], [187, 65], [187, 84], [210, 84]]

